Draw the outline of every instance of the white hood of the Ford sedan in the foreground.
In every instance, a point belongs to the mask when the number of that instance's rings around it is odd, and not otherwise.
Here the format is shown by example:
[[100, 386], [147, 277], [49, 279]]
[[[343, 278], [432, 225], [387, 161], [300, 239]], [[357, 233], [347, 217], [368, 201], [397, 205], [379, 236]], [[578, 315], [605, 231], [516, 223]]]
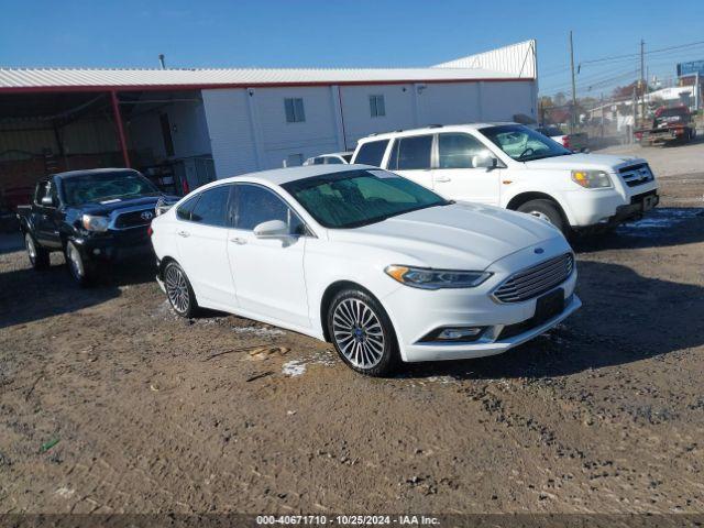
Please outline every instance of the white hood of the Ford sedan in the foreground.
[[393, 217], [351, 230], [331, 230], [332, 241], [377, 246], [407, 256], [398, 264], [485, 270], [493, 262], [562, 234], [547, 222], [497, 207], [459, 202]]

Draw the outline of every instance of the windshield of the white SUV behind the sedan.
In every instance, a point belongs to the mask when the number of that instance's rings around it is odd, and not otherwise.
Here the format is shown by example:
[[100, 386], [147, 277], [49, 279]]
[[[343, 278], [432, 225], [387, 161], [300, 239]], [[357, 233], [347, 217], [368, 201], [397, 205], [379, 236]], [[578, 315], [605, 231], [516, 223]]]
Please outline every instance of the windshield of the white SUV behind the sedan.
[[560, 143], [521, 124], [487, 127], [479, 132], [517, 162], [572, 154]]

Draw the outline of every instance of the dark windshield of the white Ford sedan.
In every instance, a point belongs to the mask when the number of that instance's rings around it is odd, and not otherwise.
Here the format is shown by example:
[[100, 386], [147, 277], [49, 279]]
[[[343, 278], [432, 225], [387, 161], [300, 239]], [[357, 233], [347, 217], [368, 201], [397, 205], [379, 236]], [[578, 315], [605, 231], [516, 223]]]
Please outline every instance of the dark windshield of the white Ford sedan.
[[326, 228], [350, 229], [428, 207], [451, 204], [386, 170], [345, 170], [284, 184]]

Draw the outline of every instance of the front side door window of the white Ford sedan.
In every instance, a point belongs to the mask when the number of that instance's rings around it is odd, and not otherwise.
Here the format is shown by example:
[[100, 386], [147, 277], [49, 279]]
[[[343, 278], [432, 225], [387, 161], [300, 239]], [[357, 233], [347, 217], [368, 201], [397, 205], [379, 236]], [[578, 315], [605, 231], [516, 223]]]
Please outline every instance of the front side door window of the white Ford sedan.
[[235, 228], [248, 231], [270, 220], [286, 222], [292, 233], [302, 234], [304, 223], [286, 202], [270, 189], [258, 185], [237, 186]]

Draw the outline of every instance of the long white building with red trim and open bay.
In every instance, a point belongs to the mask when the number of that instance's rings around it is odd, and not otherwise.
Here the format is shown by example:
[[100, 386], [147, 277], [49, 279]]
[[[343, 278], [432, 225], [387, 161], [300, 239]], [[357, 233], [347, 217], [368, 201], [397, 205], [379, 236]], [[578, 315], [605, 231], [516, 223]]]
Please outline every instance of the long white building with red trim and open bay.
[[218, 177], [297, 165], [372, 132], [535, 119], [537, 94], [535, 41], [427, 68], [0, 69], [0, 190], [37, 158], [211, 158]]

